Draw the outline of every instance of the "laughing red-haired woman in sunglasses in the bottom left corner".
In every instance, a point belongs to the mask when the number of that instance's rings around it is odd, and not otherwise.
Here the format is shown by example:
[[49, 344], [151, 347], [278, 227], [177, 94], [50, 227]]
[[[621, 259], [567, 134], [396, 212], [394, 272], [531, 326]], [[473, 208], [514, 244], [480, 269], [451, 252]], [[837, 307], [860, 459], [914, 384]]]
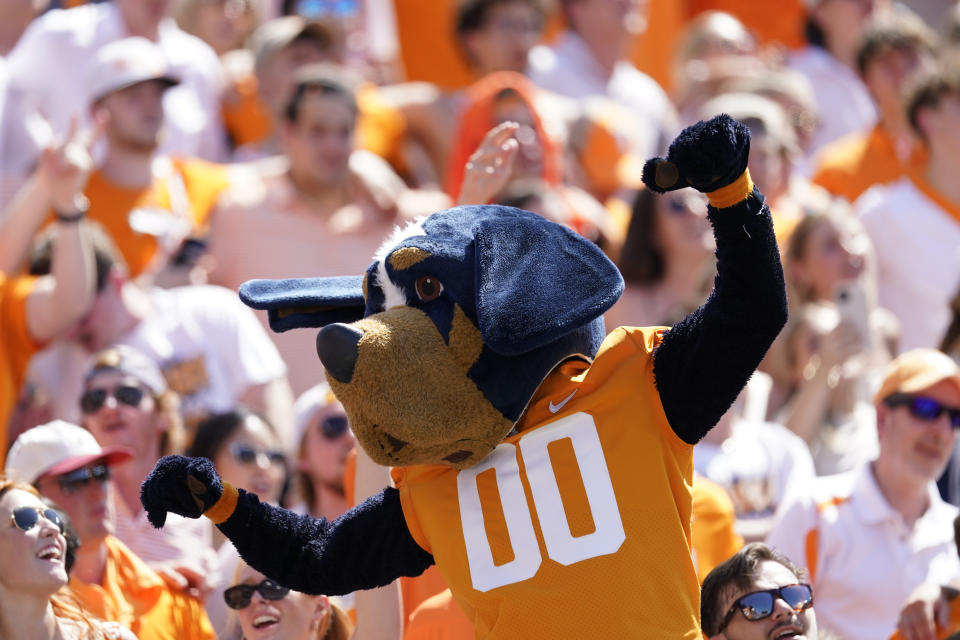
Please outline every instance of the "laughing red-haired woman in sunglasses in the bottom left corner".
[[0, 476], [0, 637], [136, 640], [89, 618], [66, 590], [63, 522], [30, 485]]

